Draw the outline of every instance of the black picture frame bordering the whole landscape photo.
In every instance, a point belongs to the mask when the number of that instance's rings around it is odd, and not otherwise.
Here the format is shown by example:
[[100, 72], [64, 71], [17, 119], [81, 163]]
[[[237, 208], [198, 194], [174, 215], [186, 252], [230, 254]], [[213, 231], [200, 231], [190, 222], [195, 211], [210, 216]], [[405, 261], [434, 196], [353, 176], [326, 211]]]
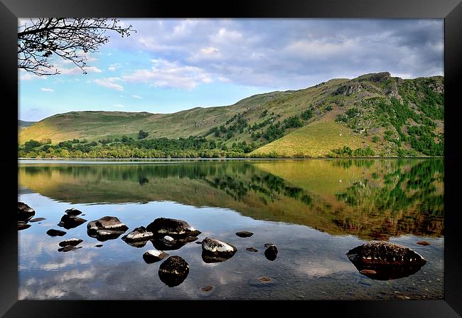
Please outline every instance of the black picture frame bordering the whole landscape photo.
[[[18, 301], [18, 237], [17, 190], [17, 127], [18, 70], [17, 18], [45, 16], [110, 16], [134, 17], [198, 17], [198, 18], [444, 18], [445, 77], [445, 247], [444, 300], [441, 301], [296, 301], [223, 302], [188, 301], [178, 307], [168, 301]], [[250, 305], [259, 314], [274, 309], [302, 310], [307, 315], [331, 314], [343, 317], [461, 317], [462, 316], [462, 248], [458, 235], [461, 211], [458, 211], [458, 182], [461, 180], [461, 154], [458, 146], [458, 108], [462, 107], [462, 4], [461, 0], [252, 0], [252, 1], [63, 1], [0, 0], [0, 90], [4, 117], [0, 125], [4, 154], [1, 164], [8, 178], [4, 179], [4, 206], [1, 223], [0, 314], [4, 317], [90, 317], [104, 314], [121, 317], [146, 311], [159, 314], [159, 309], [180, 314], [222, 314], [242, 312]], [[11, 169], [9, 169], [11, 167]], [[16, 189], [14, 185], [16, 184]], [[17, 193], [16, 193], [17, 196]], [[289, 306], [289, 307], [286, 307]], [[182, 309], [183, 308], [183, 309]], [[204, 310], [205, 309], [205, 310]], [[183, 313], [182, 313], [183, 312]], [[167, 313], [168, 314], [168, 313]]]

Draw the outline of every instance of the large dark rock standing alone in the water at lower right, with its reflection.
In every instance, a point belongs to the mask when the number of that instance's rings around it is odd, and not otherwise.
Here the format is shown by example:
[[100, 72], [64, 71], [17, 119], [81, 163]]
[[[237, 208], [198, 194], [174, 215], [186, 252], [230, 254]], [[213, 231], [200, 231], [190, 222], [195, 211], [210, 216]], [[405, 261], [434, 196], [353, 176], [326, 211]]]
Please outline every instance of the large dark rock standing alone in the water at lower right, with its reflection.
[[407, 277], [418, 272], [426, 263], [414, 250], [383, 240], [372, 240], [353, 248], [347, 256], [359, 272], [373, 280]]

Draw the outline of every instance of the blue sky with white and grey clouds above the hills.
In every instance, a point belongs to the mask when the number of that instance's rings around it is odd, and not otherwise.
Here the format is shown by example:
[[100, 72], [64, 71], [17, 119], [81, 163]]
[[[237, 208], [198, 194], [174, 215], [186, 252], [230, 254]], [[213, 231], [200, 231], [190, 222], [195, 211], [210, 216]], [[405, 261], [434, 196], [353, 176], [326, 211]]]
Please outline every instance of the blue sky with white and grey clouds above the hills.
[[[21, 20], [22, 21], [22, 20]], [[332, 78], [444, 75], [442, 19], [132, 19], [87, 55], [87, 74], [19, 73], [21, 120], [77, 110], [167, 113], [231, 105]]]

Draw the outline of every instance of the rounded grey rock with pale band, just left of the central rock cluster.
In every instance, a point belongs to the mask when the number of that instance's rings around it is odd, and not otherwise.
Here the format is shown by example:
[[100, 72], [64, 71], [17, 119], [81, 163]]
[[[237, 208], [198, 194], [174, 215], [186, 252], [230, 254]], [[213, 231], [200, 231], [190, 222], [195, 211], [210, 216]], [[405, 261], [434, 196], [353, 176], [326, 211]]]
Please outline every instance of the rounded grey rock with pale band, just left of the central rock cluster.
[[128, 230], [128, 226], [122, 223], [115, 216], [104, 216], [87, 224], [87, 234], [90, 238], [104, 242], [119, 238]]

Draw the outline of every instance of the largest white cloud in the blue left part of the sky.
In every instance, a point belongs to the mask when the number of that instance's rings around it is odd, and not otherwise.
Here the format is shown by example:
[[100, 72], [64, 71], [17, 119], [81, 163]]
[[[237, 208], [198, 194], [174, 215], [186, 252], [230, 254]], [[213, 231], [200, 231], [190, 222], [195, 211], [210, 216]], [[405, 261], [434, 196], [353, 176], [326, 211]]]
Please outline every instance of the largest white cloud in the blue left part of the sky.
[[159, 88], [181, 88], [192, 90], [200, 83], [210, 83], [212, 78], [201, 68], [167, 60], [151, 60], [151, 69], [135, 70], [130, 75], [122, 75], [129, 83], [148, 83]]

